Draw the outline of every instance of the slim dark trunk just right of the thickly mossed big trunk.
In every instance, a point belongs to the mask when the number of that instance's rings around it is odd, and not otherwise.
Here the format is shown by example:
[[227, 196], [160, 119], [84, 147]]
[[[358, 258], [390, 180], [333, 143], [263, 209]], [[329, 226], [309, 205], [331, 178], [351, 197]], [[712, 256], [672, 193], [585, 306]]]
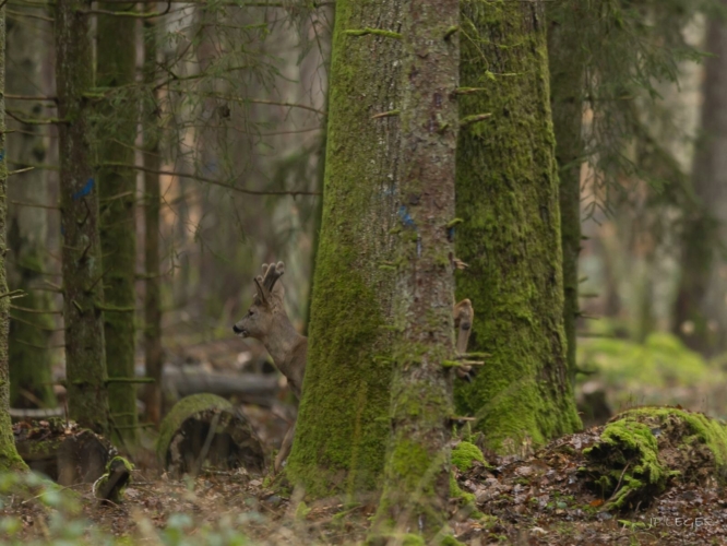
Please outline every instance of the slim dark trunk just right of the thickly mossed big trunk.
[[568, 375], [575, 384], [575, 325], [580, 313], [579, 254], [581, 253], [581, 164], [584, 142], [584, 50], [579, 17], [584, 7], [577, 0], [548, 5], [548, 59], [556, 159], [560, 178], [560, 238], [563, 249], [563, 325]]

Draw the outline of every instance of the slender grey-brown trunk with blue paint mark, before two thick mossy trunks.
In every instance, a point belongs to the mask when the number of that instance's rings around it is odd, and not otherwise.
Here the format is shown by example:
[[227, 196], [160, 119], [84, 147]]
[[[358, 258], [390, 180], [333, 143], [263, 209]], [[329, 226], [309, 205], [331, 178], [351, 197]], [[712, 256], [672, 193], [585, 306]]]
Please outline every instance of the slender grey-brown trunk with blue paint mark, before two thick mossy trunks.
[[458, 130], [460, 2], [404, 2], [391, 439], [379, 521], [444, 532], [454, 355], [451, 222]]

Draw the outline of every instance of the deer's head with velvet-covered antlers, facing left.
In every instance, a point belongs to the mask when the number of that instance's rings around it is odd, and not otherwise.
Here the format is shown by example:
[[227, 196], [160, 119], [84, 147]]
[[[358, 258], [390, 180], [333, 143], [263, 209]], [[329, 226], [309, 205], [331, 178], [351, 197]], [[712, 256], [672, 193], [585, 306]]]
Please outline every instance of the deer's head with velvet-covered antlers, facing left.
[[233, 327], [241, 337], [254, 337], [265, 341], [283, 318], [287, 320], [283, 307], [285, 289], [277, 280], [285, 273], [283, 262], [263, 264], [263, 274], [254, 278], [255, 295], [252, 305], [242, 319]]

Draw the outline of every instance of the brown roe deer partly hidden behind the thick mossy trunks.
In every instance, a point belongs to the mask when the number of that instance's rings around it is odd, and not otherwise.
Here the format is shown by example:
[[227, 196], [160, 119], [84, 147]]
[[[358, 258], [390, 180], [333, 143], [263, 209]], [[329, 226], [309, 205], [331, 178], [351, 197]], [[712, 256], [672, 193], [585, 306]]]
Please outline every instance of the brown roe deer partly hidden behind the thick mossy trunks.
[[[308, 337], [300, 335], [294, 328], [285, 312], [283, 298], [285, 288], [277, 281], [285, 273], [285, 264], [277, 262], [263, 264], [263, 274], [254, 278], [255, 296], [247, 314], [233, 327], [233, 331], [240, 337], [253, 337], [262, 342], [273, 363], [283, 373], [295, 395], [300, 400], [303, 375], [306, 372], [306, 358], [308, 354]], [[457, 329], [456, 351], [464, 354], [472, 332], [475, 311], [468, 299], [463, 299], [453, 308], [454, 325]], [[469, 367], [457, 368], [457, 375], [469, 380]], [[283, 439], [281, 451], [275, 458], [275, 472], [281, 470], [283, 461], [290, 452], [295, 424], [288, 429]]]

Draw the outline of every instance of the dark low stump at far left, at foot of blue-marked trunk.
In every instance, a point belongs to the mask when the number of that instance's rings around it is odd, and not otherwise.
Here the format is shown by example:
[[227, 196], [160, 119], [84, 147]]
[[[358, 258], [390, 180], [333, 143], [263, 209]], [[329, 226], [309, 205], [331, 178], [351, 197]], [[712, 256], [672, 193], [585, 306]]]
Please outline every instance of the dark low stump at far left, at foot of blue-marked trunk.
[[58, 418], [15, 424], [13, 435], [31, 470], [63, 486], [95, 482], [116, 454], [104, 437]]

